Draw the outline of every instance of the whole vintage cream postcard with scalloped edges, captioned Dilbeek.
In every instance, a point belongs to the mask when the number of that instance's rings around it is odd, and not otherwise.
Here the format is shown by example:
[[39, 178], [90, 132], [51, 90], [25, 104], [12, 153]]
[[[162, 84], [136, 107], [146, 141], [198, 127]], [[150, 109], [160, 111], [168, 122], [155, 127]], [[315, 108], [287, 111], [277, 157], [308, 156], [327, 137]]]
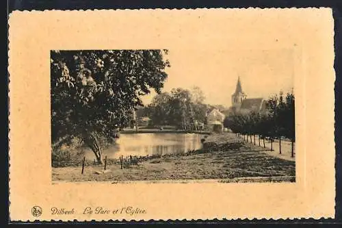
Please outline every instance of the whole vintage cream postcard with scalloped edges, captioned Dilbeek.
[[10, 220], [334, 218], [332, 10], [9, 26]]

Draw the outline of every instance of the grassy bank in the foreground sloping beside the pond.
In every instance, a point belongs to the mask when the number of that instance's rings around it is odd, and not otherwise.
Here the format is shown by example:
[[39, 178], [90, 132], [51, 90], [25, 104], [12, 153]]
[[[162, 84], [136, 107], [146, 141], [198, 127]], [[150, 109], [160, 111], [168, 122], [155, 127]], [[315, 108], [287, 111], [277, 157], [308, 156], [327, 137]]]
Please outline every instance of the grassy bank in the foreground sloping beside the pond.
[[[230, 149], [226, 142], [240, 144]], [[294, 181], [295, 162], [263, 153], [263, 149], [241, 142], [234, 134], [213, 134], [205, 147], [183, 155], [139, 157], [137, 165], [108, 160], [103, 166], [53, 168], [54, 181], [157, 181], [220, 179], [221, 181]]]

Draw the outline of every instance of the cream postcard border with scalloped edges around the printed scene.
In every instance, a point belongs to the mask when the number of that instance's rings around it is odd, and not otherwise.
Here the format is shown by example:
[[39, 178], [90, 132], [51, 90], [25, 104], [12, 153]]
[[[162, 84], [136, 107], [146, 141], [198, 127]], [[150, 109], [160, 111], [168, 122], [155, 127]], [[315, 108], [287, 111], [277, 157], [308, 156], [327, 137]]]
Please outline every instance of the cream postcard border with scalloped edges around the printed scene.
[[[9, 26], [10, 220], [334, 218], [332, 10], [15, 11]], [[295, 183], [52, 183], [51, 49], [210, 49], [217, 38], [241, 49], [293, 48]], [[98, 206], [146, 214], [82, 214]], [[76, 213], [53, 216], [51, 207]]]

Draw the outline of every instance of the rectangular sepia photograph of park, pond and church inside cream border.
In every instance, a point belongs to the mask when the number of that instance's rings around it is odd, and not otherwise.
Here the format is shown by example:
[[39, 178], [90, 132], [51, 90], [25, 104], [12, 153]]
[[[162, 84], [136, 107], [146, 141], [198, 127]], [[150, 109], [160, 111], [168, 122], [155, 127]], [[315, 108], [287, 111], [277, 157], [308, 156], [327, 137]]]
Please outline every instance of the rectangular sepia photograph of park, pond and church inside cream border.
[[291, 49], [51, 50], [53, 181], [295, 182], [293, 67]]

